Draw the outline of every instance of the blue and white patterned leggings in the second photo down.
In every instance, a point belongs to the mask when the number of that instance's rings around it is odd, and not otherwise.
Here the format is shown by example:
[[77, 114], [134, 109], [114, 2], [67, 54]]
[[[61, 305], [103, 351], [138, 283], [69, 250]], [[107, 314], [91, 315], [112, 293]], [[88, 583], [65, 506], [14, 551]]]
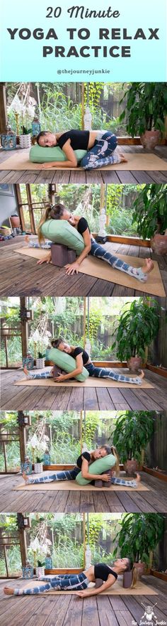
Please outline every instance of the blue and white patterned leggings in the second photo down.
[[[47, 250], [50, 250], [51, 245], [52, 242], [47, 241], [46, 244], [42, 245], [42, 248], [45, 247]], [[39, 248], [40, 245], [38, 244], [38, 242], [30, 241], [29, 247]], [[145, 283], [147, 280], [147, 274], [144, 274], [144, 271], [142, 271], [142, 267], [133, 267], [132, 265], [125, 263], [125, 261], [118, 259], [117, 257], [115, 257], [114, 254], [111, 254], [110, 252], [105, 250], [105, 247], [100, 246], [100, 244], [98, 244], [96, 240], [93, 239], [93, 237], [91, 237], [91, 250], [89, 254], [91, 254], [92, 257], [97, 257], [98, 259], [105, 261], [115, 269], [124, 271], [125, 274], [128, 274], [128, 276], [132, 276], [132, 278], [137, 279], [142, 283]]]

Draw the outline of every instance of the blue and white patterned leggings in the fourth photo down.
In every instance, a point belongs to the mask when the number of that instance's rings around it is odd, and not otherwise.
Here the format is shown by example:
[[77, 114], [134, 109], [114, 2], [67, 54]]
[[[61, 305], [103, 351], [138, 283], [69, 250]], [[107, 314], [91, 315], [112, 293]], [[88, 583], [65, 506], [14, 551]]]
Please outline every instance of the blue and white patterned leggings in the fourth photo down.
[[[79, 474], [79, 468], [73, 468], [73, 470], [62, 470], [62, 472], [55, 472], [51, 475], [44, 475], [39, 478], [33, 478], [28, 476], [28, 480], [26, 484], [30, 485], [38, 485], [40, 482], [56, 482], [57, 480], [75, 480], [77, 474]], [[103, 480], [103, 475], [102, 475]], [[136, 480], [124, 480], [124, 478], [112, 477], [111, 478], [112, 485], [127, 485], [127, 487], [136, 487]]]

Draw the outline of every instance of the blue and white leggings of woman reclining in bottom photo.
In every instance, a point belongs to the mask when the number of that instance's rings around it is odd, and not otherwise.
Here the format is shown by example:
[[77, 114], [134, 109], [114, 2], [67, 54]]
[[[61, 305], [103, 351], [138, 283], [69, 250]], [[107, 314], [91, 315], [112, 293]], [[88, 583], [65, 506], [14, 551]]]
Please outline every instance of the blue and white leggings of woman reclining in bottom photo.
[[80, 591], [88, 587], [88, 578], [84, 572], [80, 574], [58, 574], [53, 578], [47, 576], [40, 578], [45, 581], [45, 585], [39, 585], [30, 589], [15, 589], [14, 595], [33, 595], [35, 593], [45, 593], [46, 591]]

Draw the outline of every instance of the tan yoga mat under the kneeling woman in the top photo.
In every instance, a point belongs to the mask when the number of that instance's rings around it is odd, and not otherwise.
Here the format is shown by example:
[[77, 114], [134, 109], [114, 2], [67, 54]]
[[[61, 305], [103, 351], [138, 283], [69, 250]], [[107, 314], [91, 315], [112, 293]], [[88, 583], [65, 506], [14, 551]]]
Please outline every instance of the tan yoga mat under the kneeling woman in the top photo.
[[[122, 146], [123, 150], [123, 146]], [[9, 158], [6, 158], [4, 163], [1, 163], [0, 170], [41, 170], [42, 163], [31, 163], [28, 158], [29, 151], [25, 150], [24, 153], [18, 150], [18, 153], [13, 154]], [[126, 153], [127, 163], [114, 163], [114, 165], [103, 166], [101, 170], [122, 170], [122, 171], [167, 171], [167, 162], [163, 161], [163, 158], [159, 158], [156, 154], [146, 154], [144, 151], [141, 153]], [[45, 168], [44, 172], [46, 171]], [[48, 168], [51, 171], [56, 170], [83, 170], [84, 168], [64, 168], [63, 161], [62, 167]], [[93, 170], [93, 171], [96, 171]]]

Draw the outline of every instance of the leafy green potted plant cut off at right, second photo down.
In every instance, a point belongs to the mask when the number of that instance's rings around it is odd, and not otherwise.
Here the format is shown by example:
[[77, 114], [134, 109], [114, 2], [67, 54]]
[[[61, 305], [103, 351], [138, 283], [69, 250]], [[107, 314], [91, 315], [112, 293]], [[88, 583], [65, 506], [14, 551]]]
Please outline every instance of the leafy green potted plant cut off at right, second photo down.
[[134, 200], [133, 223], [156, 254], [167, 254], [167, 185], [144, 185]]

